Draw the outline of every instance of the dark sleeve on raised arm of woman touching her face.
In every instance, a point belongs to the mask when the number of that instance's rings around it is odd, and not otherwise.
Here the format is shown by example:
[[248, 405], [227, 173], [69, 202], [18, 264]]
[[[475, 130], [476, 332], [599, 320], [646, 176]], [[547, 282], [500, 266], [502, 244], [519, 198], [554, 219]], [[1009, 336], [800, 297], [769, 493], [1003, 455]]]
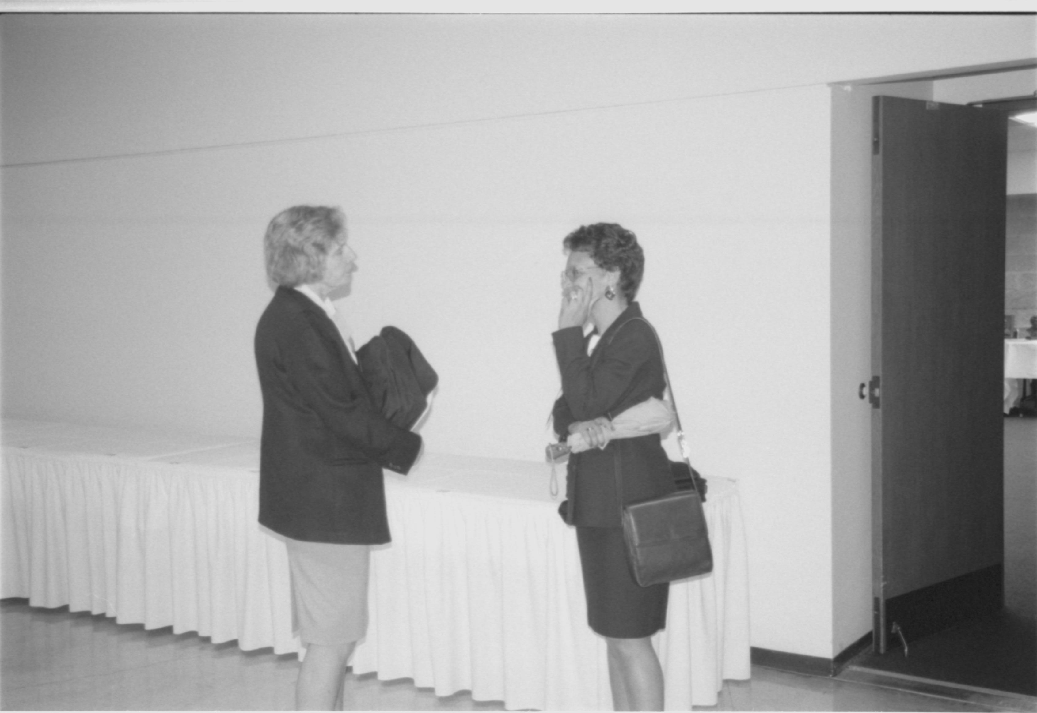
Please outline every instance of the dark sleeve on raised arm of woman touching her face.
[[645, 367], [658, 359], [650, 329], [639, 320], [622, 324], [608, 344], [598, 344], [597, 348], [604, 351], [593, 369], [580, 327], [570, 326], [552, 335], [562, 376], [562, 395], [574, 420], [588, 421], [599, 416], [611, 419], [652, 395], [640, 393], [642, 387], [648, 386], [647, 381], [636, 382]]

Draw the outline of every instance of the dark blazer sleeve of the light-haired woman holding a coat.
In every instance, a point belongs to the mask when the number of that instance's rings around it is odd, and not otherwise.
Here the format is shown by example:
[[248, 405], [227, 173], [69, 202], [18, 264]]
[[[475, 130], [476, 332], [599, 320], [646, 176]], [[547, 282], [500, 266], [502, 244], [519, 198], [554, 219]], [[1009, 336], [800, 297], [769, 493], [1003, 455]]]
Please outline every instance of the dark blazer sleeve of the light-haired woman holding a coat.
[[405, 474], [418, 457], [421, 436], [390, 423], [366, 394], [348, 388], [340, 350], [314, 319], [307, 315], [301, 320], [286, 350], [291, 386], [330, 433], [383, 467]]

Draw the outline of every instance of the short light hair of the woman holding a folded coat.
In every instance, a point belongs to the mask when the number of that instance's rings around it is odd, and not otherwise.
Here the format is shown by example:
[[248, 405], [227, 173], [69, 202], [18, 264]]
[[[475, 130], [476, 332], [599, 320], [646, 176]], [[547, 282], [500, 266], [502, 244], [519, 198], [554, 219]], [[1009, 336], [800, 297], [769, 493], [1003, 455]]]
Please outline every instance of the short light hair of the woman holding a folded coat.
[[345, 213], [323, 205], [296, 205], [267, 226], [267, 277], [275, 285], [298, 287], [324, 278], [325, 260], [343, 239]]

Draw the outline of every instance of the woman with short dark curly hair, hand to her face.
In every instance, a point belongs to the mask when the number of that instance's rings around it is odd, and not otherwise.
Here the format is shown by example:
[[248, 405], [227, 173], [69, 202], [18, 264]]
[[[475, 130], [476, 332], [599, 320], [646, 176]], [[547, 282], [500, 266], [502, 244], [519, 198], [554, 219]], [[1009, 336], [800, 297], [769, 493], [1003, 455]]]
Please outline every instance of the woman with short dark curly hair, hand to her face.
[[[633, 232], [612, 223], [582, 226], [563, 246], [562, 306], [552, 335], [562, 379], [554, 427], [560, 439], [579, 433], [597, 448], [569, 456], [561, 512], [577, 529], [588, 624], [608, 645], [613, 706], [658, 711], [663, 669], [651, 636], [666, 626], [669, 584], [634, 580], [620, 509], [676, 488], [657, 433], [609, 439], [614, 416], [666, 390], [658, 343], [634, 302], [644, 253]], [[587, 324], [593, 331], [585, 336]]]

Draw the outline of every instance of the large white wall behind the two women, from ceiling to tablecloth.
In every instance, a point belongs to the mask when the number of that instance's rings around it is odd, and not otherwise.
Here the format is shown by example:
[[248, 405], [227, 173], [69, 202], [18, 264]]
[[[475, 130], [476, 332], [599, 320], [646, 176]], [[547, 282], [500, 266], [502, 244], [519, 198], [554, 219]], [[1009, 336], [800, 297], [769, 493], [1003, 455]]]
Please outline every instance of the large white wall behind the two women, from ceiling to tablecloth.
[[440, 371], [428, 450], [538, 459], [561, 238], [619, 221], [697, 465], [740, 481], [753, 645], [838, 653], [825, 83], [1019, 59], [1033, 18], [0, 23], [5, 416], [255, 434], [260, 237], [327, 202], [360, 341]]

